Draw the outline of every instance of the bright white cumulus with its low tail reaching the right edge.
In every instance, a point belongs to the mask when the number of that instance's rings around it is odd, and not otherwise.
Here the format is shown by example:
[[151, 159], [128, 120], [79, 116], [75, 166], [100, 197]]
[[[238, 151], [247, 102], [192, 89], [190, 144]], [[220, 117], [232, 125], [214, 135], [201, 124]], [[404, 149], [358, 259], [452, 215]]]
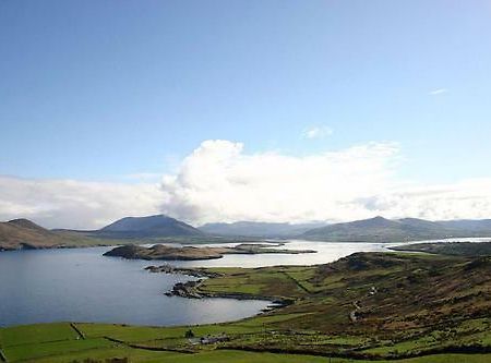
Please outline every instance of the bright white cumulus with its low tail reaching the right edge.
[[295, 157], [207, 141], [164, 178], [163, 211], [197, 223], [491, 216], [491, 179], [418, 186], [396, 178], [399, 159], [393, 143]]

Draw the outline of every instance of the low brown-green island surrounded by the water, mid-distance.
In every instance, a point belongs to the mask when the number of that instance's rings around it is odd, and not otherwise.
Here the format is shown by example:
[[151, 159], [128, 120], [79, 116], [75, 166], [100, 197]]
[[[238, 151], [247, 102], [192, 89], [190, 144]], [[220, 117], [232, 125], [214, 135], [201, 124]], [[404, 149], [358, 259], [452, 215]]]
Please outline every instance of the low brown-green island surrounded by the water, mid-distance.
[[235, 247], [194, 247], [183, 246], [173, 247], [165, 244], [156, 244], [152, 247], [143, 247], [139, 245], [122, 245], [106, 252], [105, 256], [123, 257], [128, 259], [161, 259], [161, 261], [195, 261], [195, 259], [214, 259], [221, 258], [224, 255], [230, 254], [263, 254], [263, 253], [315, 253], [310, 250], [278, 250], [270, 249], [268, 244], [261, 243], [243, 243]]

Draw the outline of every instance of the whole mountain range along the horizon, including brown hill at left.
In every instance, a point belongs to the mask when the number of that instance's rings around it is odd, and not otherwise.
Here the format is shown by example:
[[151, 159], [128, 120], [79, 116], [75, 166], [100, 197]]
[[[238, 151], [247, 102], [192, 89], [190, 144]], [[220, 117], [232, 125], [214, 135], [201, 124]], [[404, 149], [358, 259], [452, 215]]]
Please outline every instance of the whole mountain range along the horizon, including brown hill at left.
[[[444, 238], [490, 237], [491, 219], [429, 221], [375, 217], [344, 223], [267, 223], [241, 221], [194, 228], [158, 215], [127, 217], [99, 230], [48, 230], [27, 219], [0, 222], [0, 251], [143, 243], [158, 238], [205, 241], [214, 237], [290, 238], [332, 242], [404, 242]], [[191, 241], [193, 239], [193, 241]], [[171, 242], [171, 240], [169, 241]], [[188, 243], [188, 242], [187, 242]]]

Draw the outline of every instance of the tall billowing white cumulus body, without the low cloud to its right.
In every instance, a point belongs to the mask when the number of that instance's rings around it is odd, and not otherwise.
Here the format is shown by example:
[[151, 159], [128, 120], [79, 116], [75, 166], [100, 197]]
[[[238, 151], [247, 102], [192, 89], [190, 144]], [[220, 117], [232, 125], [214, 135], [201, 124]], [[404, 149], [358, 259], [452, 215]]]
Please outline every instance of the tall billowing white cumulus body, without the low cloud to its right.
[[349, 202], [390, 187], [395, 144], [368, 144], [306, 157], [246, 154], [243, 145], [207, 141], [164, 178], [163, 210], [197, 222], [320, 220], [366, 214]]

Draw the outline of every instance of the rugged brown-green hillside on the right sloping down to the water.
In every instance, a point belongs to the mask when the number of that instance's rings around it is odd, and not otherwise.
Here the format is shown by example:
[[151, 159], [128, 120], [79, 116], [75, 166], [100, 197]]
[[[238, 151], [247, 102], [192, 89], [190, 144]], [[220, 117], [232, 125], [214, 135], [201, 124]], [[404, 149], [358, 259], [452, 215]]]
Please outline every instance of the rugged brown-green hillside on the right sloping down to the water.
[[203, 297], [292, 302], [263, 317], [274, 322], [268, 337], [229, 348], [366, 359], [490, 350], [490, 257], [356, 253], [318, 266], [209, 270], [223, 276], [195, 288]]

